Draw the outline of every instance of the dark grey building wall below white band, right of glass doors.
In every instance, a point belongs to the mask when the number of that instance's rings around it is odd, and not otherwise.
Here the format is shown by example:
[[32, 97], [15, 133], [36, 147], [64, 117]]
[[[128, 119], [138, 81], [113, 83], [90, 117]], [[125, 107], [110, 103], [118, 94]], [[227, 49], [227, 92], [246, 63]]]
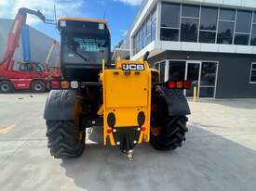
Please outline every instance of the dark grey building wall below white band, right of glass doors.
[[256, 83], [249, 83], [250, 67], [256, 55], [165, 51], [150, 58], [150, 63], [164, 59], [218, 61], [215, 98], [256, 98]]

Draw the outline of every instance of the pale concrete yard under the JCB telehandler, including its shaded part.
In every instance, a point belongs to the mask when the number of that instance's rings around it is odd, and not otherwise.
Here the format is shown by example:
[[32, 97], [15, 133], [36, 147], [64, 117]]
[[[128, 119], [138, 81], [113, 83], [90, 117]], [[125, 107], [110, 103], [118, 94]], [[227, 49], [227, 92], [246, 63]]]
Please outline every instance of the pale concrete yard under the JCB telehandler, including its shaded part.
[[189, 102], [187, 140], [175, 151], [135, 148], [134, 160], [88, 135], [78, 159], [53, 159], [43, 112], [47, 94], [0, 95], [0, 190], [256, 189], [256, 100]]

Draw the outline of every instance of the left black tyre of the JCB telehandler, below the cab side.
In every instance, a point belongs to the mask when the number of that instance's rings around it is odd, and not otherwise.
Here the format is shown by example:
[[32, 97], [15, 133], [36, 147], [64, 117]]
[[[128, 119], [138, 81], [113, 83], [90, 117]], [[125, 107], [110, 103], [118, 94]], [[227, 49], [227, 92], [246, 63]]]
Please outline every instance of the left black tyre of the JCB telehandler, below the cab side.
[[79, 157], [85, 148], [86, 134], [82, 136], [74, 121], [47, 121], [50, 154], [56, 159]]

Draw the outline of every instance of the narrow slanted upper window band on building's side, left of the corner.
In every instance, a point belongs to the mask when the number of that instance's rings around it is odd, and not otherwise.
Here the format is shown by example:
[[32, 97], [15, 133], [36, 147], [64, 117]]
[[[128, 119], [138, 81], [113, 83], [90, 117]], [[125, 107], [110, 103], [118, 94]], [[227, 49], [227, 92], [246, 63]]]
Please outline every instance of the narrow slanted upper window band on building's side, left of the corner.
[[141, 28], [133, 37], [133, 55], [136, 55], [146, 45], [155, 41], [156, 33], [156, 7], [141, 24]]

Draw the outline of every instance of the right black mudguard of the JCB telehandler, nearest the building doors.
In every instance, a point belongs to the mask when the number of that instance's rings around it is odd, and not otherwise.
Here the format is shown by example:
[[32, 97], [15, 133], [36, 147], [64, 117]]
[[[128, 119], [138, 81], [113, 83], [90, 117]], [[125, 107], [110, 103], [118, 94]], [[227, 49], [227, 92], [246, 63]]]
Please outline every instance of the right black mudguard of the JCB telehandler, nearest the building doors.
[[167, 87], [161, 87], [160, 89], [161, 95], [166, 99], [169, 116], [191, 114], [187, 99], [183, 94], [183, 90], [168, 89]]

